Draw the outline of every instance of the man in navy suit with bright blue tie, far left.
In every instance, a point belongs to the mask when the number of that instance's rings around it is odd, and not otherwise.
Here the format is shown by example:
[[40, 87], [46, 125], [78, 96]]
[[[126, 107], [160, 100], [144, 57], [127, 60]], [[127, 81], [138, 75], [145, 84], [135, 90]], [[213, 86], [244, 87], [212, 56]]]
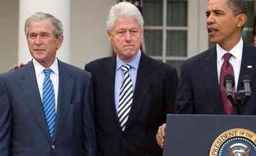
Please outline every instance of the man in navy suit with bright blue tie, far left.
[[97, 155], [92, 76], [56, 58], [62, 23], [35, 13], [25, 33], [32, 61], [0, 75], [0, 155]]

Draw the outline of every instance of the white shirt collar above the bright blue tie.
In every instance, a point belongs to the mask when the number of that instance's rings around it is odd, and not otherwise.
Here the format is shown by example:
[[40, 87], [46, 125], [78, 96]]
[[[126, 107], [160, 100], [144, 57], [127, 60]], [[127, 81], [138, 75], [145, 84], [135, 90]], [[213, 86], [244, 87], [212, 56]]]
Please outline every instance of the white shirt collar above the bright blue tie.
[[[32, 59], [32, 62], [35, 67], [35, 75], [38, 77], [38, 75], [42, 74], [45, 67], [40, 65], [40, 63], [38, 63], [38, 61], [36, 59]], [[58, 60], [57, 60], [57, 58], [55, 58], [55, 61], [49, 68], [53, 71], [54, 74], [58, 75]]]

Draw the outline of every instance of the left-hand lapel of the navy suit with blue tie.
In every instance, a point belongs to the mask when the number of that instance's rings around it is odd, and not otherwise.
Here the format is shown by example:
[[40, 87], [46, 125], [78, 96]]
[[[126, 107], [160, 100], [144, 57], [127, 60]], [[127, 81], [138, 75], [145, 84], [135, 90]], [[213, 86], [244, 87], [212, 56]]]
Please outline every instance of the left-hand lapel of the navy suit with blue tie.
[[40, 98], [40, 93], [38, 91], [37, 86], [37, 77], [35, 75], [35, 68], [33, 67], [32, 61], [28, 63], [24, 67], [24, 75], [21, 76], [22, 79], [22, 90], [28, 100], [28, 107], [31, 109], [35, 116], [35, 120], [37, 121], [39, 127], [44, 132], [47, 140], [51, 143], [51, 137], [48, 131], [48, 126], [46, 123], [46, 117], [44, 115], [44, 111], [42, 109], [42, 101]]

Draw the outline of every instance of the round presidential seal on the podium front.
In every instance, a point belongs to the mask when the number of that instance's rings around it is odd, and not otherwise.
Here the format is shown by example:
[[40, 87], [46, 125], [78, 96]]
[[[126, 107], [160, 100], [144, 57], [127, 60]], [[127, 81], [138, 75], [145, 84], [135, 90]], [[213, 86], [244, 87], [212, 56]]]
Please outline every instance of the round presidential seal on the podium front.
[[256, 134], [246, 129], [231, 129], [219, 135], [209, 156], [255, 156]]

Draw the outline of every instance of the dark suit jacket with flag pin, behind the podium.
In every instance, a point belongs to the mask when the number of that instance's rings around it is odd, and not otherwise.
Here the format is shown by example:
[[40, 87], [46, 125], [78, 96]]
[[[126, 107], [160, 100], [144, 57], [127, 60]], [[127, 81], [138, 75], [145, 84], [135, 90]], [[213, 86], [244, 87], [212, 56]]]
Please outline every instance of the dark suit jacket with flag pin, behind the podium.
[[[255, 69], [256, 49], [244, 45], [238, 90], [241, 89], [241, 77], [249, 74], [252, 76], [252, 97], [243, 114], [256, 114]], [[218, 84], [216, 47], [183, 62], [176, 106], [176, 113], [225, 114]]]

